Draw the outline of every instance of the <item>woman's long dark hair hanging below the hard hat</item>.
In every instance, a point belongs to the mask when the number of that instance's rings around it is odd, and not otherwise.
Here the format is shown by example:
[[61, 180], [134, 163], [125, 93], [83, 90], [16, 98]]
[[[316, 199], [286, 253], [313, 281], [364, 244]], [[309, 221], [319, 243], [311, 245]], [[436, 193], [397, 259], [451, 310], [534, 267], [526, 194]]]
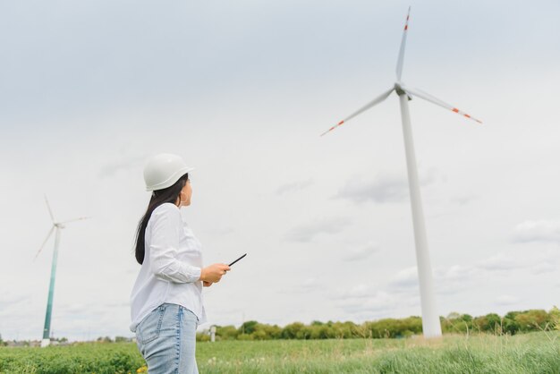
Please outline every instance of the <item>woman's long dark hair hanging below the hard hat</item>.
[[161, 204], [165, 202], [175, 204], [181, 195], [182, 188], [188, 180], [189, 174], [187, 173], [182, 175], [172, 186], [152, 193], [152, 197], [149, 199], [148, 209], [146, 209], [146, 214], [140, 218], [138, 228], [136, 229], [136, 260], [140, 265], [144, 262], [144, 238], [146, 237], [146, 227], [148, 226], [149, 217], [152, 217], [152, 212]]

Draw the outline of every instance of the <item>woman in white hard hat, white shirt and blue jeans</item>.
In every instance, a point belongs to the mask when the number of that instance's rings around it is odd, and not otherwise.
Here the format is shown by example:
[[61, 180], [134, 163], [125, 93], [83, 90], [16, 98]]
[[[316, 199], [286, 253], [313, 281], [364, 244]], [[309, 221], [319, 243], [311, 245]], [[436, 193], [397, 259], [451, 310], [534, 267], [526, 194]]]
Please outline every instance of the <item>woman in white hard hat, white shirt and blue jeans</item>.
[[196, 329], [206, 321], [202, 286], [220, 281], [225, 264], [202, 267], [200, 242], [182, 221], [191, 205], [189, 172], [181, 157], [160, 154], [144, 167], [148, 209], [136, 235], [140, 274], [132, 288], [132, 332], [151, 373], [198, 373]]

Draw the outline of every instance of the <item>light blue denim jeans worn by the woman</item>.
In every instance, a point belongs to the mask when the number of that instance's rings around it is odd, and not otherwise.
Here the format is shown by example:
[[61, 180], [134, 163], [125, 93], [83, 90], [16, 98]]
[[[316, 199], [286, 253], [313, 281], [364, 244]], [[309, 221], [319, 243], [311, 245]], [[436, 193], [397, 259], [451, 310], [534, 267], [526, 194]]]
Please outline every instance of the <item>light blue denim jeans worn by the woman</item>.
[[180, 305], [164, 303], [136, 327], [136, 344], [149, 374], [198, 374], [195, 359], [199, 319]]

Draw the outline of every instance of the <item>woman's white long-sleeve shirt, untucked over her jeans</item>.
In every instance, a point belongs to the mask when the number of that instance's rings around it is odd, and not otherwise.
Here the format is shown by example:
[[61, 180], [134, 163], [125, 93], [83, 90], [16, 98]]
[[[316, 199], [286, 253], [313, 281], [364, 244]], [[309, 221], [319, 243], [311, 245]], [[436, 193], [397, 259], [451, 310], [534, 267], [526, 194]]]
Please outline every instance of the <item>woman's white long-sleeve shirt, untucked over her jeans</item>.
[[164, 302], [182, 305], [206, 322], [202, 302], [202, 252], [199, 240], [174, 204], [154, 209], [144, 237], [145, 255], [132, 287], [131, 331]]

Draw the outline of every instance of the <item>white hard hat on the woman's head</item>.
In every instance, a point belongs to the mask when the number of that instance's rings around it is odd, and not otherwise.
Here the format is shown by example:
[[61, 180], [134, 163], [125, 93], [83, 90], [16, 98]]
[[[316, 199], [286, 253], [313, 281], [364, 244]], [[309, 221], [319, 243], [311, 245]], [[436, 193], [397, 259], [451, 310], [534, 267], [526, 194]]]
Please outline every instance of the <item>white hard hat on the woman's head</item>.
[[148, 159], [144, 166], [146, 191], [163, 190], [171, 187], [182, 175], [194, 170], [187, 166], [181, 157], [170, 153], [160, 153]]

